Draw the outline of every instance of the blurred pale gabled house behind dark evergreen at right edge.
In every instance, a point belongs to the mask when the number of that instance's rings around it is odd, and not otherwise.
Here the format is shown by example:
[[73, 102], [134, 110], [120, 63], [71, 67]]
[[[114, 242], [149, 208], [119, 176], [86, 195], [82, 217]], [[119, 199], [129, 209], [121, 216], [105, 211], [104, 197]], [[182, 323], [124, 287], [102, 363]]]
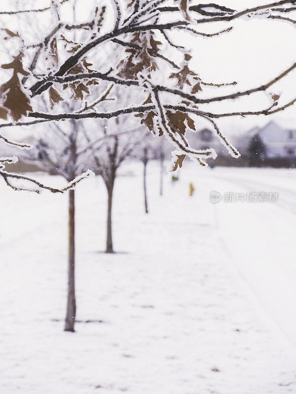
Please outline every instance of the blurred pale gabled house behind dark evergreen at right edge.
[[259, 134], [265, 146], [265, 158], [296, 159], [296, 128], [284, 128], [271, 121], [266, 126], [256, 127], [243, 135], [236, 146], [241, 155], [248, 156], [248, 147], [251, 139]]

